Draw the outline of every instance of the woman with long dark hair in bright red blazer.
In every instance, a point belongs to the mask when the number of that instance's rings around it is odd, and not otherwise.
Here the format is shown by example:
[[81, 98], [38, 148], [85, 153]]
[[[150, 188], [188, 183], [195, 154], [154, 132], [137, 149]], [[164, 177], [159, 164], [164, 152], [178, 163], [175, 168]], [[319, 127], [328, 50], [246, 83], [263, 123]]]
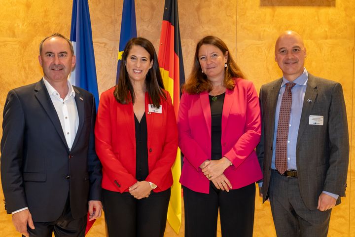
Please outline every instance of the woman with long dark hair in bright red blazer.
[[101, 95], [95, 125], [110, 237], [163, 237], [178, 128], [150, 41], [128, 41], [118, 84]]

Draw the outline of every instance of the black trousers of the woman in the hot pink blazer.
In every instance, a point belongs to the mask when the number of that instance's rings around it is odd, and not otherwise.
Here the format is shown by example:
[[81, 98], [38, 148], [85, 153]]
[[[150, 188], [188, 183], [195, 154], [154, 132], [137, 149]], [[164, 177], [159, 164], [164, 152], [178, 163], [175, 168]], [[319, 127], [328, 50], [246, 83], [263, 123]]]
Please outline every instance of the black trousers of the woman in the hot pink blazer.
[[255, 184], [226, 191], [210, 182], [210, 193], [194, 192], [183, 187], [185, 237], [215, 237], [218, 208], [222, 237], [252, 237], [254, 225]]

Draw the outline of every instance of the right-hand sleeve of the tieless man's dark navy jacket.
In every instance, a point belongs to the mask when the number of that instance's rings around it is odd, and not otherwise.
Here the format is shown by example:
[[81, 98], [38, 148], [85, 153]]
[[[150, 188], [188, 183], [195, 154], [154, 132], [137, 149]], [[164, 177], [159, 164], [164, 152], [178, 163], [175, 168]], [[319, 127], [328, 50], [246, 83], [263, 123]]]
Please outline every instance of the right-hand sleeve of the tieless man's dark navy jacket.
[[91, 95], [91, 125], [90, 125], [90, 137], [89, 137], [89, 149], [88, 149], [88, 172], [90, 177], [90, 193], [89, 200], [101, 200], [101, 182], [102, 182], [102, 166], [95, 151], [95, 118], [96, 118], [96, 106], [95, 98]]

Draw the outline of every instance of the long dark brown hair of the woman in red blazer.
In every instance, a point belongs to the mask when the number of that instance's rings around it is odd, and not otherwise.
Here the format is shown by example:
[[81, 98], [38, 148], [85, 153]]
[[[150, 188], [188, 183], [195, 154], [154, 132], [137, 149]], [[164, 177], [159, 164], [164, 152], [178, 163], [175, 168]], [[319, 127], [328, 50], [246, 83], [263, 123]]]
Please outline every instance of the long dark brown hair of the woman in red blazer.
[[153, 60], [153, 66], [149, 69], [145, 77], [145, 86], [149, 95], [151, 103], [159, 108], [160, 98], [163, 97], [166, 99], [166, 94], [163, 92], [164, 85], [163, 79], [160, 74], [158, 57], [156, 55], [153, 44], [144, 38], [133, 38], [129, 40], [124, 48], [122, 54], [122, 62], [120, 65], [120, 72], [118, 83], [116, 89], [113, 92], [116, 100], [121, 104], [128, 104], [130, 102], [135, 102], [135, 93], [133, 90], [133, 85], [129, 79], [128, 72], [126, 69], [126, 62], [128, 54], [133, 45], [139, 45], [143, 47], [150, 55], [150, 61]]

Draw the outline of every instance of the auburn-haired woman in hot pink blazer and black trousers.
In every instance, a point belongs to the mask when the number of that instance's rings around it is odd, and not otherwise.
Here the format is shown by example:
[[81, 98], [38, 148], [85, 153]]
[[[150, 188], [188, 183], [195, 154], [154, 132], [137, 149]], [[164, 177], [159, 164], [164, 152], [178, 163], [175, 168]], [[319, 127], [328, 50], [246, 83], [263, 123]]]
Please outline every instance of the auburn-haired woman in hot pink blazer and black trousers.
[[258, 96], [225, 43], [208, 36], [196, 47], [178, 112], [185, 236], [252, 237], [255, 181], [262, 178]]

